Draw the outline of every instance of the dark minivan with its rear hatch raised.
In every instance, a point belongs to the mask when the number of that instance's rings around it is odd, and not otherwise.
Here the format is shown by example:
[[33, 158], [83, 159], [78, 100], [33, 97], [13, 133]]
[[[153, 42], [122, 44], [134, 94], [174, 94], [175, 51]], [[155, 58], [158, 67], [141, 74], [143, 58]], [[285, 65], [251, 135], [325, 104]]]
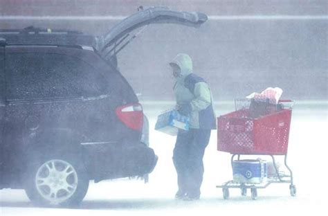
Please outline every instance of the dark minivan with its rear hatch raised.
[[104, 37], [28, 27], [0, 30], [0, 189], [38, 204], [78, 204], [89, 181], [145, 176], [157, 156], [147, 118], [116, 69], [133, 30], [199, 26], [197, 12], [140, 10]]

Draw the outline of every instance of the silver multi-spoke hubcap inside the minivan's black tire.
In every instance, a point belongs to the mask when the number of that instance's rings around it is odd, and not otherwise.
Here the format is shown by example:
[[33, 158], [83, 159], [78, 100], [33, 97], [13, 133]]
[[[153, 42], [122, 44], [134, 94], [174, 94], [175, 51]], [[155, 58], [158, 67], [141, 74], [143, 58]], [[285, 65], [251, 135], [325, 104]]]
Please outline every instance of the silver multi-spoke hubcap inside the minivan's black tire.
[[37, 170], [35, 186], [39, 195], [57, 205], [69, 199], [78, 188], [78, 173], [66, 161], [47, 161]]

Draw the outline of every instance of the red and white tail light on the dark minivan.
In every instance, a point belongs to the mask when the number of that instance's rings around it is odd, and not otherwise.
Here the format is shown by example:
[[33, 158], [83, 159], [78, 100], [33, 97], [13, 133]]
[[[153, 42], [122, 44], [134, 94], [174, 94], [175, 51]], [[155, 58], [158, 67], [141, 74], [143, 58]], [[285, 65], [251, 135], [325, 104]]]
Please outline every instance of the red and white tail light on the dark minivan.
[[143, 129], [143, 107], [139, 103], [116, 108], [116, 115], [127, 127], [138, 131]]

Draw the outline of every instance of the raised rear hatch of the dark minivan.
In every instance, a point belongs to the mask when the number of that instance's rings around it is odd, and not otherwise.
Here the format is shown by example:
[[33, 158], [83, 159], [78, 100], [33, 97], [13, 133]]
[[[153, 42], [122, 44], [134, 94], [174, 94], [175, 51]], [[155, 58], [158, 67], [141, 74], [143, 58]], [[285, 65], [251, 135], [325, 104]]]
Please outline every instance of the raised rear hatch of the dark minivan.
[[[149, 24], [179, 24], [199, 27], [208, 17], [201, 12], [181, 12], [163, 7], [139, 10], [111, 28], [104, 36], [95, 37], [95, 49], [105, 58], [116, 56], [136, 35], [129, 34], [137, 28]], [[143, 30], [143, 28], [141, 29]], [[118, 47], [120, 46], [120, 47]]]

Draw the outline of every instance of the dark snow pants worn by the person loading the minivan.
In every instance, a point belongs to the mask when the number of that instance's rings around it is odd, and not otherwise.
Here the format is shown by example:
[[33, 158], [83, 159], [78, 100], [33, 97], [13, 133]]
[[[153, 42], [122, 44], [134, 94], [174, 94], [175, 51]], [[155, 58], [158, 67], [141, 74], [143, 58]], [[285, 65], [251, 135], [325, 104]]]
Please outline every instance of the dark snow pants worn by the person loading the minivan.
[[173, 152], [179, 192], [188, 193], [190, 196], [201, 194], [203, 156], [208, 141], [210, 141], [210, 129], [179, 131]]

